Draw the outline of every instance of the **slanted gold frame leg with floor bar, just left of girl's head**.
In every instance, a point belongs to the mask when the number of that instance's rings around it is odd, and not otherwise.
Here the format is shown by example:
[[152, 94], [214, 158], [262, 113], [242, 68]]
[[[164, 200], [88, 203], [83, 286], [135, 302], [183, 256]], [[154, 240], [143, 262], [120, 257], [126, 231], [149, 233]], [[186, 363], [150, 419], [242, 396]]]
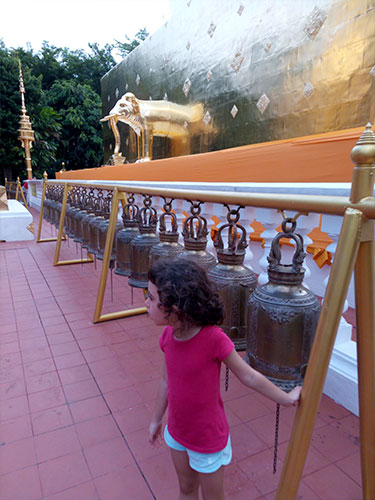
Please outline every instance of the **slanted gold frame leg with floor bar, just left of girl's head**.
[[114, 235], [115, 235], [115, 227], [116, 227], [116, 220], [117, 220], [117, 214], [118, 214], [118, 204], [119, 204], [120, 200], [126, 201], [125, 193], [120, 194], [118, 189], [115, 188], [113, 191], [111, 215], [109, 218], [107, 237], [105, 240], [105, 248], [104, 248], [103, 263], [102, 263], [102, 273], [100, 276], [98, 294], [96, 297], [96, 305], [95, 305], [94, 319], [93, 319], [94, 323], [108, 321], [111, 319], [125, 318], [128, 316], [135, 316], [136, 314], [144, 314], [145, 312], [147, 312], [146, 307], [137, 307], [135, 309], [127, 309], [124, 311], [102, 314], [104, 293], [105, 293], [105, 287], [107, 284], [108, 267], [109, 267], [109, 262], [110, 262], [110, 258], [111, 258], [111, 253], [112, 253], [113, 239], [114, 239]]

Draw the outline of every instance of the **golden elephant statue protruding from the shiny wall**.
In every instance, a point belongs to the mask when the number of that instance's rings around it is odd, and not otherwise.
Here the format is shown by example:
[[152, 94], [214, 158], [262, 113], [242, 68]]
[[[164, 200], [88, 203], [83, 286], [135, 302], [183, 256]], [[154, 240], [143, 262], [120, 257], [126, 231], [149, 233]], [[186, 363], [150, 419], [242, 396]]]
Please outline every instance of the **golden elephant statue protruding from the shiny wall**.
[[[127, 92], [101, 121], [110, 121], [115, 136], [114, 157], [121, 156], [117, 122], [126, 123], [137, 134], [138, 161], [152, 159], [154, 136], [188, 141], [199, 133], [212, 132], [203, 122], [203, 105], [181, 105], [166, 100], [144, 101]], [[121, 162], [122, 163], [122, 162]]]

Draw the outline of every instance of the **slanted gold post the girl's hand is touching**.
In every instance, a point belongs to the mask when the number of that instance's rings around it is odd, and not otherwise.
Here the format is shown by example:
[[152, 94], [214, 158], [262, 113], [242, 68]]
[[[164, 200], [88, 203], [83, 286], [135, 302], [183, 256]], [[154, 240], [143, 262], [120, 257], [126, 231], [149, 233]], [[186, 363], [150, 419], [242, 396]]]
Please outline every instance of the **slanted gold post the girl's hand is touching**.
[[293, 500], [297, 495], [337, 328], [357, 257], [361, 222], [362, 212], [351, 208], [346, 210], [276, 500]]

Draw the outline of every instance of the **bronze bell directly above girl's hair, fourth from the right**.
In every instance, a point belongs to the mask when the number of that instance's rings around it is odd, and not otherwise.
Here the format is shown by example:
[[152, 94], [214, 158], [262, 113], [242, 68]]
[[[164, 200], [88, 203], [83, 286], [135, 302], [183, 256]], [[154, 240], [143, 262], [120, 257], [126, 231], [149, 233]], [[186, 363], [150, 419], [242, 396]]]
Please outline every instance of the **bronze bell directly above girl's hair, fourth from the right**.
[[[178, 243], [178, 224], [176, 214], [172, 212], [172, 200], [167, 202], [164, 198], [164, 201], [164, 213], [159, 218], [160, 243], [150, 250], [151, 266], [159, 259], [173, 259], [184, 250], [182, 245]], [[167, 230], [166, 218], [170, 218], [170, 230]]]

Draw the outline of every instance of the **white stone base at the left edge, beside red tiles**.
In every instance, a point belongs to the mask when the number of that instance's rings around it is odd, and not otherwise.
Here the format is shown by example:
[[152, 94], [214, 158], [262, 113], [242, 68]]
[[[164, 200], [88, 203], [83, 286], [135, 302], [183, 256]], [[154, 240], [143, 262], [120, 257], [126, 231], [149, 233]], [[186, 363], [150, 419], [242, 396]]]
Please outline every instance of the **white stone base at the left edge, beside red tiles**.
[[8, 208], [0, 212], [0, 241], [33, 240], [33, 217], [27, 208], [17, 200], [8, 200]]

